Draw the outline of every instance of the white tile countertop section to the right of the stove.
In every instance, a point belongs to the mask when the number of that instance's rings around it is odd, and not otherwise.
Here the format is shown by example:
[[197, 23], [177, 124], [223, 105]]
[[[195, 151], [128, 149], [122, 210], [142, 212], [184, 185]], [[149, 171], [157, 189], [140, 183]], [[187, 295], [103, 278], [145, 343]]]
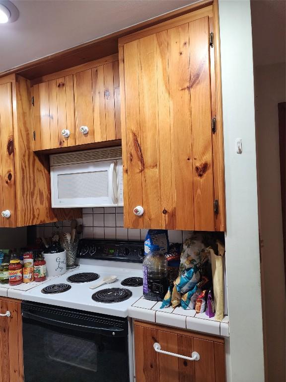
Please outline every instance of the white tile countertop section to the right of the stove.
[[141, 297], [129, 308], [129, 316], [143, 321], [174, 326], [176, 328], [190, 329], [198, 332], [229, 337], [228, 316], [222, 321], [215, 321], [205, 313], [196, 313], [196, 310], [185, 310], [181, 306], [160, 309], [162, 302], [150, 301]]

